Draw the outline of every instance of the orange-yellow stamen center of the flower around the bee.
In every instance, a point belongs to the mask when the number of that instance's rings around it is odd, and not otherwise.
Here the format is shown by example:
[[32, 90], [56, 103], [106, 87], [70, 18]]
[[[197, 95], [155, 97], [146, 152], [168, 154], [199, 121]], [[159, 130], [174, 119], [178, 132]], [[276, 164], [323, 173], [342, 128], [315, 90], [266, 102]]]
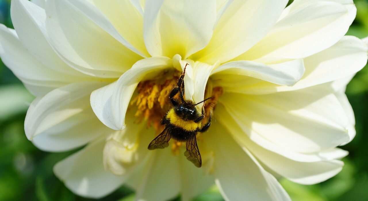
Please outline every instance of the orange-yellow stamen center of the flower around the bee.
[[[176, 70], [166, 70], [154, 79], [141, 81], [137, 86], [136, 95], [131, 99], [130, 105], [137, 107], [137, 112], [134, 114], [136, 123], [145, 121], [148, 128], [152, 126], [156, 130], [156, 136], [164, 129], [161, 120], [172, 107], [169, 93], [177, 85], [180, 73]], [[213, 113], [217, 100], [222, 93], [222, 87], [213, 87], [212, 81], [209, 79], [206, 85], [205, 97], [212, 98], [205, 103], [205, 118], [203, 122], [207, 122], [210, 113]], [[179, 93], [174, 96], [174, 99], [180, 100]], [[179, 148], [182, 144], [181, 142], [173, 141], [171, 150], [175, 155], [179, 153]]]

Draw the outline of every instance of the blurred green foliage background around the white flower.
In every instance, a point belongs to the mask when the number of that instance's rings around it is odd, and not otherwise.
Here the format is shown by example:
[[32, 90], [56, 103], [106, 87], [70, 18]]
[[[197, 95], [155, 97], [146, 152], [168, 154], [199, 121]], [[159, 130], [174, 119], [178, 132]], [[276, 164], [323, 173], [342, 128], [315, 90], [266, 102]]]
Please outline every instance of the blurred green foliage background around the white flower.
[[[291, 2], [291, 1], [290, 1]], [[368, 0], [354, 0], [357, 17], [347, 35], [368, 36]], [[0, 23], [13, 28], [10, 0], [0, 0]], [[346, 94], [353, 106], [357, 135], [343, 146], [350, 154], [343, 159], [343, 170], [332, 179], [312, 186], [287, 180], [281, 184], [294, 201], [368, 201], [368, 68], [358, 72], [347, 86]], [[86, 199], [69, 191], [53, 174], [57, 161], [72, 152], [49, 153], [38, 150], [24, 134], [26, 110], [33, 100], [22, 83], [0, 61], [0, 201], [39, 200], [69, 201]], [[134, 200], [134, 192], [121, 187], [100, 200]], [[174, 200], [180, 200], [180, 197]], [[221, 201], [213, 186], [195, 201]]]

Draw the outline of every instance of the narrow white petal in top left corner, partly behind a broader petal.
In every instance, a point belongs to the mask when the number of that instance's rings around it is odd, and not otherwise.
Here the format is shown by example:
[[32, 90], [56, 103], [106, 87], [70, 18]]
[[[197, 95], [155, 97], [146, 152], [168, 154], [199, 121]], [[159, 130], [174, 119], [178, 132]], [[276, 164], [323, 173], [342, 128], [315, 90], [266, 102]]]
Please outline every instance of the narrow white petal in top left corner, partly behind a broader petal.
[[28, 0], [11, 1], [11, 20], [24, 47], [43, 65], [61, 73], [86, 77], [63, 62], [50, 46], [43, 8]]

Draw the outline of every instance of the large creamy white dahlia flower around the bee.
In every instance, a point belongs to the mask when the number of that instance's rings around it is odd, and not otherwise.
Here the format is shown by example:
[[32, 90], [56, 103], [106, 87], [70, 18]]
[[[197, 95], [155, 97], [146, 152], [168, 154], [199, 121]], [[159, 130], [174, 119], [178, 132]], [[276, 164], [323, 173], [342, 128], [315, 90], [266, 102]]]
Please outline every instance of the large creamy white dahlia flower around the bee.
[[[367, 45], [344, 36], [352, 0], [33, 2], [12, 1], [0, 56], [37, 96], [28, 139], [87, 144], [54, 168], [74, 193], [127, 184], [137, 199], [190, 200], [215, 181], [226, 200], [290, 200], [274, 175], [314, 184], [342, 169], [336, 147], [355, 135], [344, 90], [367, 63]], [[186, 63], [185, 97], [219, 97], [202, 168], [173, 140], [147, 149]]]

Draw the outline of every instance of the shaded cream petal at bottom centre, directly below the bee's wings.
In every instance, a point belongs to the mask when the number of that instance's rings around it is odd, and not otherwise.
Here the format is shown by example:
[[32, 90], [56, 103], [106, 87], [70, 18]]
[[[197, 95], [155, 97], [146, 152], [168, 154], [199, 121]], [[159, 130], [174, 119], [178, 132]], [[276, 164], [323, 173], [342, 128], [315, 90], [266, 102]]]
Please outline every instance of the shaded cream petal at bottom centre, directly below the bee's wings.
[[188, 161], [183, 149], [177, 156], [170, 149], [148, 151], [146, 155], [146, 164], [136, 168], [127, 181], [137, 191], [136, 200], [169, 200], [180, 192], [181, 199], [187, 201], [213, 184], [212, 175], [205, 175], [203, 169]]

